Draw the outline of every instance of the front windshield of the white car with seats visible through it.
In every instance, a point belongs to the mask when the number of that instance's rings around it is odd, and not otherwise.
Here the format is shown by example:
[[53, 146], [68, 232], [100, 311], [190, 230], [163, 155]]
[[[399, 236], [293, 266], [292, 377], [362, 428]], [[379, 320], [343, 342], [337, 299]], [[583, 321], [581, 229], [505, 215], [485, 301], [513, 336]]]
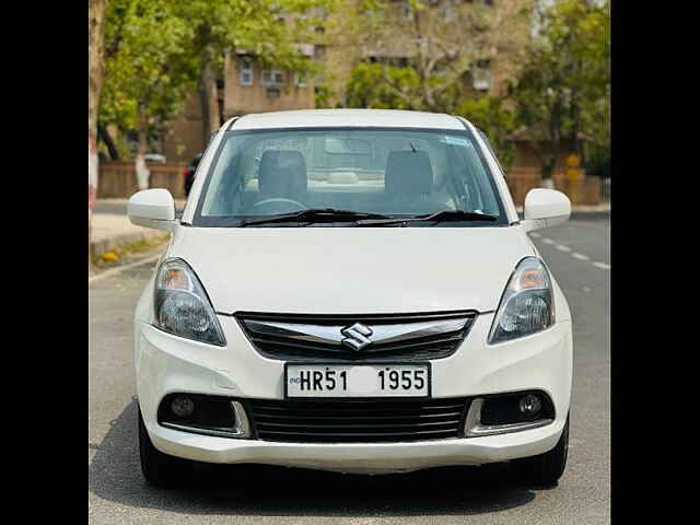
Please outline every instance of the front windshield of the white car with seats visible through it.
[[508, 224], [468, 130], [295, 128], [226, 132], [192, 225], [348, 226], [368, 217], [416, 218], [406, 226]]

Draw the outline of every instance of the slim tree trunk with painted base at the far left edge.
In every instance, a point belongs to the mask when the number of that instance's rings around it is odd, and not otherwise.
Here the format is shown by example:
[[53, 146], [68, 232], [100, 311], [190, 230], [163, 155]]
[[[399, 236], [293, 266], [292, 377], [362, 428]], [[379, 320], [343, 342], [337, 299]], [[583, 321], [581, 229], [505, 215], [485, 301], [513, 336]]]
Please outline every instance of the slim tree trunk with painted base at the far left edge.
[[90, 0], [88, 8], [88, 271], [92, 265], [92, 210], [97, 197], [97, 113], [104, 75], [106, 0]]

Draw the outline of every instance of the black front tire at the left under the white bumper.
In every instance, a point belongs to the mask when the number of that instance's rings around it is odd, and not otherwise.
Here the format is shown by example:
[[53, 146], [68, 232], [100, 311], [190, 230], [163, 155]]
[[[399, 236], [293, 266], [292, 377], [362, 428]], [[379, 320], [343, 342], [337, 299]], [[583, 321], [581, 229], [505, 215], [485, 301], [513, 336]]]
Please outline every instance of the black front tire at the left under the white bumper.
[[191, 462], [180, 457], [163, 454], [153, 446], [149, 432], [143, 423], [139, 407], [139, 456], [141, 472], [149, 485], [163, 488], [175, 488], [189, 479]]

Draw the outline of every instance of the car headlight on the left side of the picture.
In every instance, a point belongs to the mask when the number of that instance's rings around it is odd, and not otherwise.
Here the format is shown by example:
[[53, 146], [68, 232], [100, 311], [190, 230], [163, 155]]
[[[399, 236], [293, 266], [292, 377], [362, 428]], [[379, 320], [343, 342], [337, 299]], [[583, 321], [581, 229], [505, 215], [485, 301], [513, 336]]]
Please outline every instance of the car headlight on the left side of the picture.
[[153, 305], [153, 324], [160, 329], [210, 345], [226, 343], [203, 287], [183, 259], [167, 259], [159, 268]]

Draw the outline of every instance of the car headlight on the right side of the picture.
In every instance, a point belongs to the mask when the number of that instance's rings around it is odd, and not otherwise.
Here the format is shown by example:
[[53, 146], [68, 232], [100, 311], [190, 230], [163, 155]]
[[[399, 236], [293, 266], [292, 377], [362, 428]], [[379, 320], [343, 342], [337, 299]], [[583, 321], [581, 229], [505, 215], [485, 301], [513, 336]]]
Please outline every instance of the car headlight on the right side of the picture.
[[555, 324], [551, 279], [536, 257], [520, 261], [493, 318], [489, 345], [529, 336]]

